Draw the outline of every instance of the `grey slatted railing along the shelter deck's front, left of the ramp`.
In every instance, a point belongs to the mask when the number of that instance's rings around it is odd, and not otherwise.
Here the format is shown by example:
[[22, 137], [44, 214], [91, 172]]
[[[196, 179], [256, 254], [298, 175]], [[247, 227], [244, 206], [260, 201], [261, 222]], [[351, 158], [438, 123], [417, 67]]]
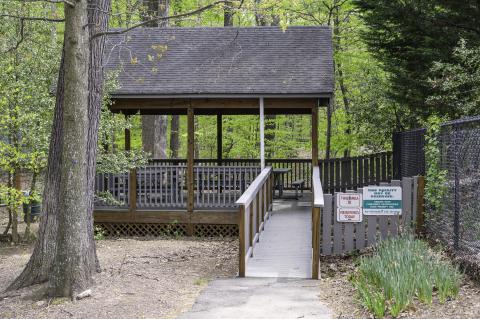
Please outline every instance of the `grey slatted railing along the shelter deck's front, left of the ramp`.
[[[156, 164], [130, 173], [99, 173], [97, 209], [186, 209], [185, 165]], [[234, 208], [237, 199], [260, 174], [258, 166], [194, 167], [194, 208]], [[130, 192], [130, 189], [136, 191]]]

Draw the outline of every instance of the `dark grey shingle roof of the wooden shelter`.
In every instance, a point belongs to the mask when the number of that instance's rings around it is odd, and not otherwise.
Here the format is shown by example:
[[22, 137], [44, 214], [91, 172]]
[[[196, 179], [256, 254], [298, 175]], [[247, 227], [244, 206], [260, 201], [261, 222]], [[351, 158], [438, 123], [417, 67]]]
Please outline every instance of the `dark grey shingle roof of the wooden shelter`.
[[328, 27], [138, 28], [107, 38], [114, 95], [330, 94]]

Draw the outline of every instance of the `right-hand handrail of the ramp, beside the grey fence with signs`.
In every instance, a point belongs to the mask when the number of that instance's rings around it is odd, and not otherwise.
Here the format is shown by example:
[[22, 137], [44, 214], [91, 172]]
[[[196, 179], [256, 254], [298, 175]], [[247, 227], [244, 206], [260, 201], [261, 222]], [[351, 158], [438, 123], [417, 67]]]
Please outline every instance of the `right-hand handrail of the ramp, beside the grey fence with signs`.
[[324, 206], [320, 168], [315, 166], [312, 173], [312, 279], [319, 279], [320, 267], [320, 222]]

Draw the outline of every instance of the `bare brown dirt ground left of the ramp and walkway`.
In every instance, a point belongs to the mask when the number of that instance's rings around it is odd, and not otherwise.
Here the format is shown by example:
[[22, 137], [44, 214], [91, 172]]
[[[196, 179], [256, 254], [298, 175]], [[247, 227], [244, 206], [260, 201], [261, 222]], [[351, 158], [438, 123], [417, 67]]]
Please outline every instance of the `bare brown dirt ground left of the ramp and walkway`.
[[[0, 296], [0, 318], [175, 318], [208, 281], [237, 273], [235, 239], [116, 239], [97, 242], [102, 272], [92, 296], [42, 299], [36, 286]], [[31, 246], [0, 246], [0, 291], [21, 272]], [[1, 294], [1, 293], [0, 293]]]

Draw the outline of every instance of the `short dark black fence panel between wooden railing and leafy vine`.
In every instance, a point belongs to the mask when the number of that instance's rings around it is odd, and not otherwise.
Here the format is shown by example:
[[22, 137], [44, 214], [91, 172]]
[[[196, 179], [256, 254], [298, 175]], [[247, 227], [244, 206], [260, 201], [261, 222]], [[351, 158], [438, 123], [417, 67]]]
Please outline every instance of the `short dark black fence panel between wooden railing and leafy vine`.
[[393, 133], [395, 179], [425, 175], [425, 128]]

